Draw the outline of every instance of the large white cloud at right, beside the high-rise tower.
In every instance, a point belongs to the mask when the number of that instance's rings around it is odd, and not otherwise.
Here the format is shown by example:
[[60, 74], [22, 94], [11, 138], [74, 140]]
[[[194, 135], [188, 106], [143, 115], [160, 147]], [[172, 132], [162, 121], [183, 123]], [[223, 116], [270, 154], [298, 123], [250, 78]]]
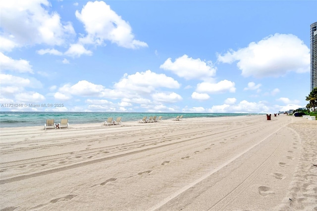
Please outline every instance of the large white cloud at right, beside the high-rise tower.
[[309, 72], [310, 49], [295, 35], [274, 34], [260, 42], [251, 42], [248, 47], [218, 55], [218, 61], [238, 61], [244, 77], [278, 77], [289, 71]]

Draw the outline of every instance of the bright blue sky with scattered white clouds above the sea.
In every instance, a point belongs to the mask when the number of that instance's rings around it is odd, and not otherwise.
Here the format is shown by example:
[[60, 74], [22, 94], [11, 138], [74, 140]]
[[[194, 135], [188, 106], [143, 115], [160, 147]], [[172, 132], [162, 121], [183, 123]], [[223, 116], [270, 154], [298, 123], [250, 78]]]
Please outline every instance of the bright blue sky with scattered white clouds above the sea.
[[313, 8], [317, 1], [2, 0], [0, 111], [305, 107]]

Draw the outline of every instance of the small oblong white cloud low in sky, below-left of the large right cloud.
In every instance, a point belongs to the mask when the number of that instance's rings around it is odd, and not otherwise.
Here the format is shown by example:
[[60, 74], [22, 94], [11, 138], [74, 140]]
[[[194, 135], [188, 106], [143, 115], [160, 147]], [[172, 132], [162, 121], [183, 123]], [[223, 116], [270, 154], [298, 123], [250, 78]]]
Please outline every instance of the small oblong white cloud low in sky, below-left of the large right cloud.
[[224, 92], [235, 92], [236, 88], [234, 87], [235, 84], [228, 80], [220, 81], [216, 84], [212, 84], [209, 82], [202, 82], [197, 84], [196, 91], [200, 93], [210, 93], [210, 94], [217, 94], [217, 93], [224, 93]]

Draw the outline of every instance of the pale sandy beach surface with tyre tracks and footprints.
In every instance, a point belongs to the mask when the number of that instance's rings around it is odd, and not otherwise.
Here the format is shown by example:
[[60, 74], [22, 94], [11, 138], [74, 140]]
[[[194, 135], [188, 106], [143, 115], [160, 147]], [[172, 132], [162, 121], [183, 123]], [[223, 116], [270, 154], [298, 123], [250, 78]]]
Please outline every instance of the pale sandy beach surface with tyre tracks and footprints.
[[0, 128], [0, 211], [317, 211], [317, 121]]

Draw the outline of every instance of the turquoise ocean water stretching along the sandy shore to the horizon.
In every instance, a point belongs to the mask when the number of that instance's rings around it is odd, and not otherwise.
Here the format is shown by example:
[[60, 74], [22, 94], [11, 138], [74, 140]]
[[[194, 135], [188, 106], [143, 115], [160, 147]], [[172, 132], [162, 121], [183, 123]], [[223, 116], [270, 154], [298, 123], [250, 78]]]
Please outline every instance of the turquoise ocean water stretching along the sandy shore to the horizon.
[[43, 126], [47, 119], [54, 119], [57, 124], [61, 119], [68, 119], [69, 124], [90, 124], [102, 123], [108, 117], [115, 120], [122, 117], [122, 122], [139, 121], [144, 116], [162, 116], [162, 120], [175, 118], [183, 115], [183, 118], [194, 117], [227, 117], [227, 116], [246, 116], [258, 114], [239, 114], [239, 113], [117, 113], [117, 112], [0, 112], [0, 127], [26, 127]]

